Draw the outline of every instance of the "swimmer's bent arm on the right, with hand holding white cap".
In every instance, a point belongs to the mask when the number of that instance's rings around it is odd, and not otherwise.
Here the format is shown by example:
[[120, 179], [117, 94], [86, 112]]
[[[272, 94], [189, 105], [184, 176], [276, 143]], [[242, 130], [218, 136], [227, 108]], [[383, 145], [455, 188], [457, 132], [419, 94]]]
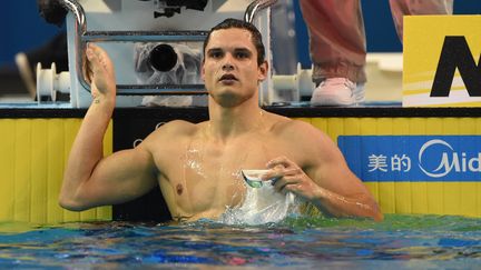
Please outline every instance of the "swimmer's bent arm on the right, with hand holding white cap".
[[[361, 180], [349, 169], [335, 143], [311, 124], [293, 121], [283, 132], [295, 141], [291, 152], [302, 168], [286, 157], [271, 160], [264, 179], [278, 178], [281, 192], [294, 192], [334, 217], [366, 217], [382, 220], [377, 203]], [[301, 157], [300, 157], [301, 156]]]

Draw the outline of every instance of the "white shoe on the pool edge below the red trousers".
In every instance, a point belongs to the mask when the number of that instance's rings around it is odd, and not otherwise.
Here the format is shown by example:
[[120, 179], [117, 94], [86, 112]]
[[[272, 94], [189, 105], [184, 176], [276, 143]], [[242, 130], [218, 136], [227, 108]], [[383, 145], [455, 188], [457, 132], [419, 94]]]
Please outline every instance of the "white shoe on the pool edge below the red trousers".
[[364, 101], [363, 86], [346, 78], [327, 78], [314, 89], [311, 98], [313, 106], [356, 106]]

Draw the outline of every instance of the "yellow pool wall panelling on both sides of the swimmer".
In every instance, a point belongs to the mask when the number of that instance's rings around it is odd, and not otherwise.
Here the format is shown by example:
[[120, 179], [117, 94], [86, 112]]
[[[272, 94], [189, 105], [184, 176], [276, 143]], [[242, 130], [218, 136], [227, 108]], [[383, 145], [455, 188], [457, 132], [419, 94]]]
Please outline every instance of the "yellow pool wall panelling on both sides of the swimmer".
[[[340, 136], [481, 136], [481, 118], [475, 116], [296, 119], [323, 130], [336, 143]], [[63, 168], [80, 122], [77, 117], [0, 119], [0, 221], [55, 223], [111, 219], [111, 207], [71, 212], [58, 206]], [[462, 139], [457, 143], [462, 144]], [[112, 152], [112, 124], [104, 146], [106, 154]], [[364, 183], [385, 213], [481, 217], [481, 179]]]

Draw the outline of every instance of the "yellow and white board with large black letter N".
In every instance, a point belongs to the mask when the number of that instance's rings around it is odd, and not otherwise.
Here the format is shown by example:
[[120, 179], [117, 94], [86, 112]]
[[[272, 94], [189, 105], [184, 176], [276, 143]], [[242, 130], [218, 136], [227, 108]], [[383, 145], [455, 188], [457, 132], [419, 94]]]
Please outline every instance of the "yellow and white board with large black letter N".
[[408, 16], [403, 107], [481, 107], [481, 16]]

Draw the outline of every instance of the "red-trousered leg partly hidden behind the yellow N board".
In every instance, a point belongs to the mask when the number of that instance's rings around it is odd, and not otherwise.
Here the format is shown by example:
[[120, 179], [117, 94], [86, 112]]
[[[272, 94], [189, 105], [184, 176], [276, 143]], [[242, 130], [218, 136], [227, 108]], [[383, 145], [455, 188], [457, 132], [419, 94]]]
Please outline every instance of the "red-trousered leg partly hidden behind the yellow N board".
[[403, 41], [403, 16], [452, 14], [454, 0], [390, 0], [397, 37]]

